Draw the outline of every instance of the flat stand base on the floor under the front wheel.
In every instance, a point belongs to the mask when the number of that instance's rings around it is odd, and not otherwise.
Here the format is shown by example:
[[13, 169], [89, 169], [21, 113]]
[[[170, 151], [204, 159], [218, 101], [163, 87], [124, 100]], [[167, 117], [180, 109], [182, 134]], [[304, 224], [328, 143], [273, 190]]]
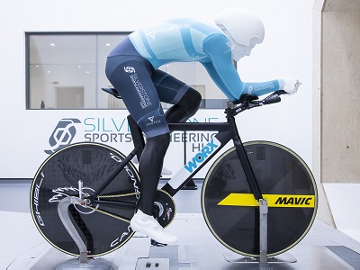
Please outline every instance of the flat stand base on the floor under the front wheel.
[[[229, 263], [235, 264], [260, 264], [259, 257], [242, 257], [242, 256], [227, 256], [224, 258]], [[296, 263], [297, 259], [289, 253], [280, 254], [276, 257], [268, 257], [266, 260], [267, 264], [292, 264]]]

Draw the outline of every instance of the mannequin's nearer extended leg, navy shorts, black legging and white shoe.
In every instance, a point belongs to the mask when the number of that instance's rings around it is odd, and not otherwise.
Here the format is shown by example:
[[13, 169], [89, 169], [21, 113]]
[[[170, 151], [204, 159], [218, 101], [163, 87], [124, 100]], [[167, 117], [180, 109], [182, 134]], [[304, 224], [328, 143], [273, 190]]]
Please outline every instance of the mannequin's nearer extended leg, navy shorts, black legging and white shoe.
[[[169, 130], [160, 105], [157, 90], [151, 80], [154, 69], [143, 58], [108, 58], [118, 60], [108, 78], [121, 94], [131, 116], [147, 137], [139, 161], [139, 210], [130, 221], [133, 230], [140, 231], [161, 243], [173, 243], [176, 238], [166, 233], [153, 218], [153, 205], [166, 149], [170, 142]], [[123, 61], [126, 59], [126, 61]], [[111, 63], [109, 64], [111, 65]]]

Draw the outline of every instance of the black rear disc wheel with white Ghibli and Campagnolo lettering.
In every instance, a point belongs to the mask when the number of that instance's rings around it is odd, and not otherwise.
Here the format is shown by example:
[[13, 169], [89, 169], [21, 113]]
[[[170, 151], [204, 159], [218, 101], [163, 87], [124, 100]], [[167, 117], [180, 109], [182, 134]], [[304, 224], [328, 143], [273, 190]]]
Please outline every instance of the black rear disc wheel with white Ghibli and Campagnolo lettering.
[[[78, 247], [58, 217], [58, 202], [66, 196], [78, 196], [78, 180], [84, 182], [83, 191], [94, 193], [123, 158], [113, 148], [96, 143], [79, 143], [60, 149], [40, 166], [31, 185], [31, 215], [41, 235], [52, 246], [78, 256]], [[69, 207], [70, 219], [88, 247], [88, 257], [112, 252], [133, 234], [129, 220], [139, 196], [134, 193], [139, 186], [139, 175], [131, 164], [126, 168], [104, 189], [102, 195], [112, 196], [119, 190], [122, 190], [121, 193], [133, 193], [121, 198], [122, 202], [133, 203], [132, 209], [117, 210], [99, 205]], [[119, 216], [124, 219], [119, 219]]]

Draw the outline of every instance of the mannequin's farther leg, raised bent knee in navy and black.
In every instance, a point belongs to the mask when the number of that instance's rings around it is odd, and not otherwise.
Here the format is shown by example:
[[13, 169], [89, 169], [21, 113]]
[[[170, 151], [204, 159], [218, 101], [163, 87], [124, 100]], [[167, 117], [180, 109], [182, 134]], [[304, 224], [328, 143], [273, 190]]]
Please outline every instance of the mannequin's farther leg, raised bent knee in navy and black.
[[174, 104], [165, 113], [166, 121], [184, 122], [197, 112], [202, 95], [195, 89], [161, 70], [156, 70], [152, 79], [160, 101]]

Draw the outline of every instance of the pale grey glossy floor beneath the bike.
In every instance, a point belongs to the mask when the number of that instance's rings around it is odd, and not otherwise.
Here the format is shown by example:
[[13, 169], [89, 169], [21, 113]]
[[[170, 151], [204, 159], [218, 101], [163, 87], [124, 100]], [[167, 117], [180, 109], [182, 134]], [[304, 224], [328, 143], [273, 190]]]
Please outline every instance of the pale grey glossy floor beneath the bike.
[[195, 183], [197, 190], [174, 198], [177, 214], [167, 229], [178, 236], [176, 245], [152, 247], [148, 238], [135, 234], [124, 247], [84, 265], [40, 236], [29, 211], [31, 182], [0, 180], [0, 269], [360, 269], [360, 243], [320, 220], [296, 247], [266, 266], [229, 251], [202, 219], [202, 182]]

